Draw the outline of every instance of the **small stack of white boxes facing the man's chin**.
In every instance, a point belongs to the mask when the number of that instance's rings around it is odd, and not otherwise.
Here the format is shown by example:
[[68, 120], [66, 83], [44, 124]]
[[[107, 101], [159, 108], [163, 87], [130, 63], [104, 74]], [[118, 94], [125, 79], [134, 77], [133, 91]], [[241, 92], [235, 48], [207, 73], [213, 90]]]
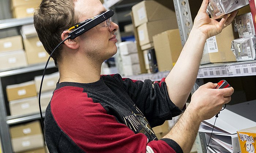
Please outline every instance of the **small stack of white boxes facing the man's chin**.
[[140, 73], [140, 61], [136, 43], [132, 41], [119, 43], [124, 75]]

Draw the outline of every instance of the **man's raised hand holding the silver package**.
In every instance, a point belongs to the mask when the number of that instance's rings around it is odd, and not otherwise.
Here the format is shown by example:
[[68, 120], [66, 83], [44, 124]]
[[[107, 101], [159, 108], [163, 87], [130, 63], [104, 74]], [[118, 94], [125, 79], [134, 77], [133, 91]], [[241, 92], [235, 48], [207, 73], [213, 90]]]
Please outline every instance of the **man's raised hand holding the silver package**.
[[203, 3], [194, 20], [193, 28], [198, 29], [204, 35], [206, 35], [207, 38], [210, 38], [219, 34], [223, 28], [228, 26], [234, 20], [234, 17], [236, 17], [238, 11], [236, 10], [231, 14], [226, 14], [220, 21], [217, 21], [211, 19], [206, 13], [208, 1], [209, 0], [203, 0]]

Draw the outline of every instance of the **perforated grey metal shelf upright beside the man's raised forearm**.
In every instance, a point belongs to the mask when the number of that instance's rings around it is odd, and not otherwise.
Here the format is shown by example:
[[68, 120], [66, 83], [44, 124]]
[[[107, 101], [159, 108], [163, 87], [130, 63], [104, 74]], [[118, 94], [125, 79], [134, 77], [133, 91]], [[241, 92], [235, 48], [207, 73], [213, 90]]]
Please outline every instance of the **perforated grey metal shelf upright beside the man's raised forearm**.
[[188, 0], [173, 0], [173, 4], [180, 30], [181, 44], [184, 46], [193, 27], [189, 3]]

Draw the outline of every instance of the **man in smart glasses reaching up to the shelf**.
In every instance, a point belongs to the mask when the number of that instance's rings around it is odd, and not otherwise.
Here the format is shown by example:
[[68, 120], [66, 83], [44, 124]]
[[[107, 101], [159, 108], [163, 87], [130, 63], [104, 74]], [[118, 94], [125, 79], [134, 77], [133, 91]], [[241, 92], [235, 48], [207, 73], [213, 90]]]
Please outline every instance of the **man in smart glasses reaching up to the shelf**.
[[[170, 2], [171, 3], [171, 2]], [[195, 83], [204, 43], [236, 16], [220, 21], [206, 13], [208, 0], [194, 21], [180, 58], [161, 82], [100, 75], [101, 64], [117, 52], [117, 24], [104, 21], [67, 40], [53, 54], [60, 81], [46, 109], [45, 138], [50, 152], [190, 152], [200, 122], [218, 114], [234, 89], [207, 83], [172, 130], [157, 140], [151, 127], [182, 113]], [[105, 12], [99, 0], [43, 0], [34, 14], [39, 39], [48, 53], [72, 31], [70, 27]], [[69, 30], [67, 30], [69, 29]]]

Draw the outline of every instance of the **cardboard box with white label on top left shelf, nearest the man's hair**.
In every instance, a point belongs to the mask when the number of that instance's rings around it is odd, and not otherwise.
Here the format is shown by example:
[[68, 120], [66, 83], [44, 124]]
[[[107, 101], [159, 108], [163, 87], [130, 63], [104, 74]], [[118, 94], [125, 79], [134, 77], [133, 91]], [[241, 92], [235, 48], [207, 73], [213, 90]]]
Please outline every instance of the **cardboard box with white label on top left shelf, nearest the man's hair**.
[[12, 16], [14, 18], [32, 17], [37, 7], [38, 7], [37, 3], [29, 4], [29, 5], [21, 5], [13, 9]]

